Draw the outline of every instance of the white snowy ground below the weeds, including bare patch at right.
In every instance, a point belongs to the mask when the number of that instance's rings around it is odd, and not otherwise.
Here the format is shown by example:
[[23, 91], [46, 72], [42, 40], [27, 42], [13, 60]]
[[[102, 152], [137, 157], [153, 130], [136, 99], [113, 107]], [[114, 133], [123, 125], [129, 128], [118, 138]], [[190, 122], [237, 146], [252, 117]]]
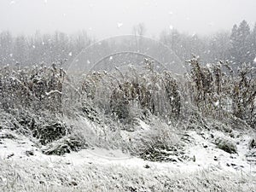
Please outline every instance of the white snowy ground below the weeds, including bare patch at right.
[[[233, 135], [232, 138], [222, 131], [186, 131], [183, 152], [191, 160], [153, 162], [104, 148], [82, 149], [62, 156], [46, 155], [41, 146], [28, 138], [1, 130], [0, 189], [255, 191], [255, 161], [247, 158], [253, 132], [233, 131]], [[236, 143], [237, 154], [217, 148], [212, 142], [217, 137]]]

